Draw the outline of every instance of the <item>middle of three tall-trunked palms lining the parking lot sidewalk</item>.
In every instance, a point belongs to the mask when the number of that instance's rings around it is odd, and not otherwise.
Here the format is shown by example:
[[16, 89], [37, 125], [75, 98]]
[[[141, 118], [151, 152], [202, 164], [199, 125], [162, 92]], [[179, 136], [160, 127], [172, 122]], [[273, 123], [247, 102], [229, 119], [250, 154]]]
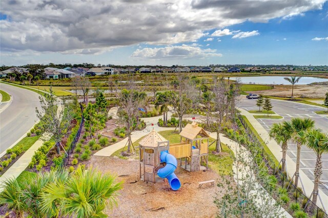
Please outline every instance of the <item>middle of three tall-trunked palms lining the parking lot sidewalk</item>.
[[314, 127], [314, 121], [309, 118], [293, 118], [291, 121], [284, 122], [285, 128], [284, 132], [286, 134], [291, 134], [292, 139], [296, 142], [297, 145], [297, 155], [296, 155], [296, 169], [295, 169], [295, 186], [298, 185], [299, 178], [299, 165], [301, 157], [301, 147], [304, 144], [302, 139], [302, 133], [308, 129]]

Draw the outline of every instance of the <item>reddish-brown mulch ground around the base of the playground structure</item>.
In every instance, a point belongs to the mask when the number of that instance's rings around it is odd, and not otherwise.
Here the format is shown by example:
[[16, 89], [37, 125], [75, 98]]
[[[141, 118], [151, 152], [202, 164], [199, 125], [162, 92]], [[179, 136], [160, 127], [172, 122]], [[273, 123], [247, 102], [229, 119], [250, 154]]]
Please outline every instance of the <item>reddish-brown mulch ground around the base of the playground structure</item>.
[[118, 206], [107, 212], [111, 217], [215, 217], [217, 214], [213, 201], [218, 187], [205, 184], [198, 188], [198, 182], [221, 180], [211, 169], [189, 172], [178, 167], [175, 173], [181, 188], [173, 191], [167, 180], [155, 184], [139, 181], [138, 160], [93, 156], [89, 164], [102, 172], [114, 173], [117, 181], [124, 181]]

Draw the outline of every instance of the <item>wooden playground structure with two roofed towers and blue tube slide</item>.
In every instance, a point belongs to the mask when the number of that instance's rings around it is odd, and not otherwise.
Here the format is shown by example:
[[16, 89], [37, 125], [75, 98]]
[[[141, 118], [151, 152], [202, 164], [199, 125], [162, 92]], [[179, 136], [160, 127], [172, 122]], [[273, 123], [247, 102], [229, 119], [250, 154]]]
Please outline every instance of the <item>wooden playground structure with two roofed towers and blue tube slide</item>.
[[167, 178], [171, 188], [177, 190], [181, 186], [174, 173], [177, 159], [180, 159], [180, 166], [182, 159], [185, 161], [184, 168], [188, 171], [200, 170], [203, 161], [208, 168], [209, 135], [204, 129], [193, 122], [187, 124], [179, 135], [180, 143], [170, 145], [168, 140], [152, 130], [139, 142], [141, 180], [156, 183], [159, 178]]

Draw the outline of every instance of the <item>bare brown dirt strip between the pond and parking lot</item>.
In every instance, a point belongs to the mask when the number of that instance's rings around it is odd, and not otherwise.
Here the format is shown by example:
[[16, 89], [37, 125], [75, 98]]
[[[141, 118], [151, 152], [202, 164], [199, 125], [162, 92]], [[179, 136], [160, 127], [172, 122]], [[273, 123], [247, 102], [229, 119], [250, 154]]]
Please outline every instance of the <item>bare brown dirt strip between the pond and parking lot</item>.
[[[295, 85], [294, 97], [297, 98], [324, 98], [328, 92], [327, 85]], [[292, 85], [275, 85], [273, 90], [252, 91], [254, 94], [291, 97]]]

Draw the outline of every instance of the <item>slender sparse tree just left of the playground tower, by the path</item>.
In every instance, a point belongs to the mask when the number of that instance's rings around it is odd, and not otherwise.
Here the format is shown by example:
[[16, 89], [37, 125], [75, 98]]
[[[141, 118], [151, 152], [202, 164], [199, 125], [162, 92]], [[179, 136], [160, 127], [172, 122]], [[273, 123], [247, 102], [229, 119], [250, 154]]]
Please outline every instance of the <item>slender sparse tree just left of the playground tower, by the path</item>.
[[139, 124], [139, 108], [146, 104], [146, 94], [138, 92], [133, 80], [127, 84], [126, 89], [118, 94], [119, 110], [117, 112], [119, 122], [126, 127], [128, 134], [128, 154], [131, 152], [131, 133]]

